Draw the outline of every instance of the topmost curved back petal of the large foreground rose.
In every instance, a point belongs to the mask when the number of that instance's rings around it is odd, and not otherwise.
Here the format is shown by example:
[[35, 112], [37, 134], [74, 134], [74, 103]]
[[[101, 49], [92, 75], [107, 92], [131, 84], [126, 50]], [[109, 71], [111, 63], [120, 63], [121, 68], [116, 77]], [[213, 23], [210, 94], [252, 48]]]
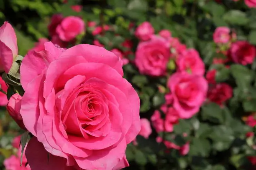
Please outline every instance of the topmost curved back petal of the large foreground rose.
[[79, 55], [83, 56], [88, 62], [97, 62], [109, 65], [123, 76], [122, 62], [120, 62], [119, 57], [103, 47], [80, 44], [67, 49], [61, 56], [74, 57]]

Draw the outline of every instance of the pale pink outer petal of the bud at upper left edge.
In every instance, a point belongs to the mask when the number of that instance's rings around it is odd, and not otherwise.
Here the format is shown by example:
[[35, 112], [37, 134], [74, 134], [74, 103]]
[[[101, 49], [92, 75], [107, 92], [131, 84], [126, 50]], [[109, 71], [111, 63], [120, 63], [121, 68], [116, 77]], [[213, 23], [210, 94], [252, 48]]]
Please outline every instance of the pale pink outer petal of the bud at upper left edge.
[[4, 24], [0, 27], [0, 41], [10, 48], [13, 56], [18, 55], [17, 37], [12, 25], [10, 25], [8, 22], [4, 22]]

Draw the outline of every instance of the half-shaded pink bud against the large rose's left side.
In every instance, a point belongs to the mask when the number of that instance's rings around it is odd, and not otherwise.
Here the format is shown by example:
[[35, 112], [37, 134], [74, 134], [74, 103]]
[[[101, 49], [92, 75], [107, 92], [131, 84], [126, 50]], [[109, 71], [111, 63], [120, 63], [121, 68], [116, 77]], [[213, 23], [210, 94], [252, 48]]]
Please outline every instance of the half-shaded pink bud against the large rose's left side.
[[8, 105], [6, 106], [6, 109], [8, 110], [9, 114], [15, 122], [20, 126], [20, 128], [26, 130], [22, 117], [20, 115], [20, 107], [21, 107], [21, 96], [16, 93], [10, 97], [10, 100], [8, 102]]

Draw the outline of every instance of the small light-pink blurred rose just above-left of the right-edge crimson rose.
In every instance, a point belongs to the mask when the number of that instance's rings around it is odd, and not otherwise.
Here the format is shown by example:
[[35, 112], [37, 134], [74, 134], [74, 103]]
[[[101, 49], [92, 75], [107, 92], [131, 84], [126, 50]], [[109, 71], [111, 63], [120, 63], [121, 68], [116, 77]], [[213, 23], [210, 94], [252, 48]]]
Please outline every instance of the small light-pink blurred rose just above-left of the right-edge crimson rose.
[[225, 44], [229, 42], [230, 38], [230, 29], [228, 27], [218, 27], [213, 33], [213, 41], [215, 43]]

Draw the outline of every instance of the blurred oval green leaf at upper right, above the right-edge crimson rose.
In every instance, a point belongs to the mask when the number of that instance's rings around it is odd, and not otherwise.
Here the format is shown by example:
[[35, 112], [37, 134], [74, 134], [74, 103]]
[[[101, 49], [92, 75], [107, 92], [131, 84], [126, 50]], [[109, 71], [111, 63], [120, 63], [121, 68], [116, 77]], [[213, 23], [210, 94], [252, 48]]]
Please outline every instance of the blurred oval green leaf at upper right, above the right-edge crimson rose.
[[249, 19], [246, 17], [246, 13], [241, 10], [230, 10], [223, 15], [223, 20], [233, 25], [246, 25]]

